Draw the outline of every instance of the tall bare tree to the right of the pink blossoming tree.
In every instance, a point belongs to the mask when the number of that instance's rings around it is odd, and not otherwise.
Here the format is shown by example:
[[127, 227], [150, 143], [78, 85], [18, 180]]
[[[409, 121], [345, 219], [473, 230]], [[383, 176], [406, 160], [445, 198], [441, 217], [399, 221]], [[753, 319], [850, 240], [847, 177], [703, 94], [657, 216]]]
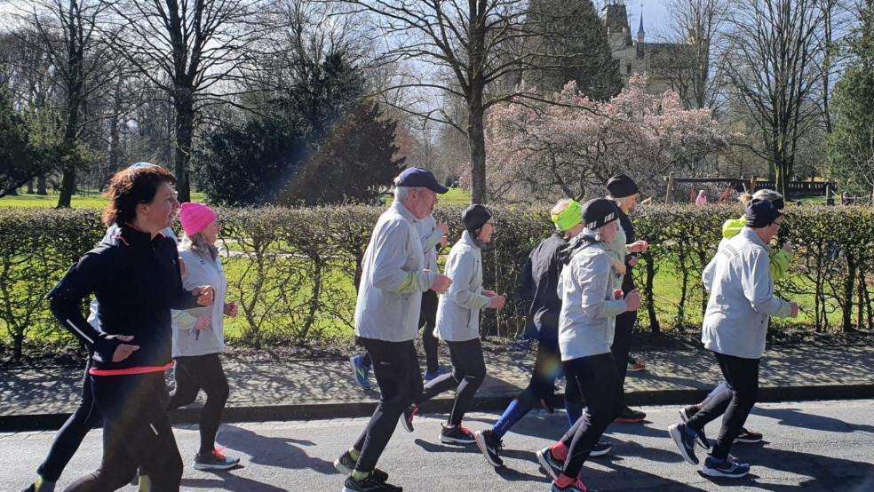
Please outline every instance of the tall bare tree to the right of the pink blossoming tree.
[[751, 147], [775, 171], [788, 195], [799, 140], [822, 113], [816, 89], [823, 56], [817, 0], [733, 0], [729, 5], [727, 74], [761, 134]]

